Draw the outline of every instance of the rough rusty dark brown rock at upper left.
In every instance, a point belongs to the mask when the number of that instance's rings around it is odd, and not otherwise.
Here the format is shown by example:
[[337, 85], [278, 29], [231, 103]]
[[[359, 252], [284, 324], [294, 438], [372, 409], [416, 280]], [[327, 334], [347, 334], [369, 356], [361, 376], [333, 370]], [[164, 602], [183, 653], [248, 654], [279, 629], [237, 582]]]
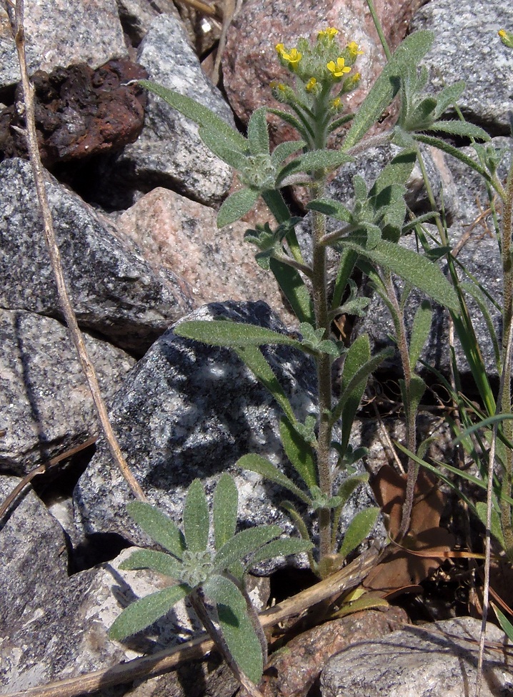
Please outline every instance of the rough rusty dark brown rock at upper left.
[[[36, 129], [41, 159], [56, 162], [84, 159], [119, 150], [134, 142], [144, 124], [145, 95], [129, 80], [146, 77], [141, 66], [127, 59], [112, 60], [96, 70], [86, 64], [56, 68], [33, 76]], [[24, 126], [18, 112], [21, 85], [14, 104], [0, 114], [0, 159], [26, 157]]]

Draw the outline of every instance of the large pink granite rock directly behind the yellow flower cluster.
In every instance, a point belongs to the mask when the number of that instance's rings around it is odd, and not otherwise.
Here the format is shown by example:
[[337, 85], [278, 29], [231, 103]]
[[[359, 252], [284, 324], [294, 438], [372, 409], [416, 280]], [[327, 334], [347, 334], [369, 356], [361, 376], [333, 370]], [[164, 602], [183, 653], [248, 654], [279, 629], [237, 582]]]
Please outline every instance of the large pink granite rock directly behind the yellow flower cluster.
[[[377, 14], [387, 41], [395, 49], [404, 38], [409, 21], [422, 0], [377, 0]], [[280, 66], [274, 46], [282, 42], [288, 48], [299, 36], [315, 38], [320, 29], [335, 26], [340, 41], [357, 41], [365, 54], [357, 63], [362, 74], [359, 88], [347, 97], [353, 110], [362, 103], [370, 86], [384, 65], [384, 54], [367, 5], [362, 0], [302, 0], [292, 5], [288, 0], [248, 0], [229, 30], [223, 56], [224, 87], [232, 109], [246, 123], [257, 107], [274, 101], [269, 83], [290, 80], [290, 73]], [[339, 38], [339, 37], [337, 37]], [[385, 119], [387, 125], [393, 114]], [[269, 117], [274, 144], [297, 138], [290, 127]]]

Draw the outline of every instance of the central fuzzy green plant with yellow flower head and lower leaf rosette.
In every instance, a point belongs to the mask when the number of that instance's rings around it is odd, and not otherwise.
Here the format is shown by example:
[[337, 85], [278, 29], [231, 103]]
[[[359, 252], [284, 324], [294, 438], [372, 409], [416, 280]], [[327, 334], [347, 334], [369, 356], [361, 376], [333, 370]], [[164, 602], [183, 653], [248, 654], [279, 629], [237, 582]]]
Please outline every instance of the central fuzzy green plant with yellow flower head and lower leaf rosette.
[[[274, 97], [289, 107], [257, 109], [248, 124], [247, 137], [197, 104], [194, 100], [141, 81], [152, 92], [178, 109], [199, 125], [203, 142], [240, 172], [244, 188], [231, 194], [219, 210], [217, 224], [223, 227], [243, 216], [262, 196], [271, 209], [275, 222], [257, 226], [247, 233], [249, 242], [258, 248], [257, 262], [273, 272], [300, 322], [302, 338], [282, 335], [264, 327], [221, 320], [183, 322], [176, 333], [215, 346], [231, 347], [250, 368], [257, 379], [266, 385], [282, 407], [280, 434], [284, 452], [300, 485], [296, 485], [275, 465], [259, 455], [245, 455], [239, 467], [259, 473], [282, 485], [293, 498], [317, 516], [319, 544], [313, 548], [314, 532], [299, 515], [296, 506], [284, 502], [302, 540], [279, 538], [274, 526], [235, 533], [236, 490], [228, 475], [223, 475], [214, 495], [215, 551], [209, 551], [209, 513], [199, 483], [191, 485], [184, 510], [184, 535], [164, 514], [149, 505], [133, 503], [130, 513], [169, 554], [141, 550], [124, 564], [124, 568], [154, 568], [179, 584], [148, 598], [137, 600], [114, 623], [112, 636], [121, 638], [139, 631], [166, 613], [176, 600], [191, 595], [199, 615], [216, 641], [227, 648], [242, 673], [257, 682], [262, 674], [264, 653], [260, 648], [257, 623], [250, 621], [244, 593], [244, 570], [270, 555], [309, 550], [314, 572], [321, 578], [341, 568], [344, 559], [364, 540], [372, 529], [377, 509], [358, 513], [339, 545], [338, 528], [342, 508], [349, 495], [366, 478], [347, 477], [337, 489], [335, 482], [341, 472], [362, 457], [363, 449], [352, 450], [349, 435], [359, 402], [369, 375], [390, 351], [372, 356], [369, 338], [364, 335], [349, 348], [332, 339], [332, 321], [340, 315], [363, 315], [367, 302], [359, 297], [352, 273], [359, 268], [371, 278], [374, 287], [384, 297], [394, 319], [395, 339], [404, 367], [402, 392], [407, 412], [408, 448], [417, 452], [414, 440], [415, 417], [424, 392], [424, 382], [415, 374], [420, 352], [431, 323], [429, 304], [424, 303], [415, 317], [412, 335], [407, 339], [403, 310], [409, 290], [419, 288], [425, 295], [450, 310], [458, 311], [458, 300], [452, 286], [444, 277], [436, 260], [417, 254], [399, 244], [414, 223], [405, 224], [407, 207], [404, 202], [406, 183], [419, 157], [419, 142], [442, 143], [437, 132], [467, 135], [487, 139], [477, 127], [460, 122], [440, 121], [439, 117], [464, 89], [464, 84], [444, 89], [437, 97], [424, 97], [427, 81], [425, 71], [417, 65], [432, 44], [430, 32], [419, 31], [406, 39], [382, 71], [356, 115], [344, 114], [344, 94], [354, 89], [359, 74], [354, 73], [360, 51], [353, 41], [345, 48], [339, 46], [337, 29], [320, 31], [310, 42], [299, 39], [297, 47], [276, 46], [279, 61], [294, 77], [294, 86], [272, 84]], [[399, 94], [401, 111], [397, 126], [379, 138], [392, 141], [401, 150], [379, 175], [370, 190], [361, 177], [354, 177], [354, 204], [346, 207], [326, 195], [327, 175], [351, 162], [352, 154], [375, 144], [376, 139], [362, 142], [369, 128], [377, 122], [384, 109]], [[284, 142], [269, 149], [267, 111], [277, 114], [299, 133], [299, 140]], [[352, 122], [341, 149], [329, 149], [330, 134], [347, 122]], [[432, 134], [429, 134], [432, 132]], [[280, 189], [289, 184], [306, 184], [310, 200], [307, 208], [312, 216], [312, 248], [305, 261], [294, 227], [299, 218], [292, 217]], [[334, 220], [333, 232], [328, 232], [327, 218]], [[330, 228], [331, 229], [331, 228]], [[339, 252], [337, 280], [332, 297], [327, 290], [327, 249]], [[444, 252], [442, 252], [443, 254]], [[441, 254], [439, 254], [440, 256]], [[305, 254], [305, 256], [307, 256]], [[397, 275], [405, 282], [399, 299], [392, 278]], [[306, 352], [317, 367], [317, 412], [300, 422], [284, 390], [279, 385], [261, 345], [284, 344]], [[332, 362], [344, 356], [341, 393], [334, 400], [332, 393]], [[340, 438], [334, 440], [339, 427]], [[402, 533], [409, 525], [417, 463], [410, 459], [408, 495], [404, 507]], [[229, 492], [229, 494], [228, 494]], [[224, 508], [219, 501], [231, 498], [231, 513], [224, 520]], [[214, 603], [214, 616], [209, 616], [204, 595]], [[224, 636], [219, 635], [217, 628]]]

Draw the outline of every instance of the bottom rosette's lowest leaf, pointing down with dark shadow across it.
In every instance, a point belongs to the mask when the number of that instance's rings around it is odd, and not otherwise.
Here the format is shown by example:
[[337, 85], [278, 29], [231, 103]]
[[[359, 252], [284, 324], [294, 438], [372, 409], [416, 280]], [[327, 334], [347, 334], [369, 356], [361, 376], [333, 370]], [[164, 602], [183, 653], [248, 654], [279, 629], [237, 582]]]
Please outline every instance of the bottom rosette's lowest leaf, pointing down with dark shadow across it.
[[260, 640], [247, 613], [246, 600], [239, 588], [221, 575], [210, 578], [204, 591], [216, 603], [219, 626], [231, 656], [242, 673], [257, 685], [262, 678], [264, 659]]

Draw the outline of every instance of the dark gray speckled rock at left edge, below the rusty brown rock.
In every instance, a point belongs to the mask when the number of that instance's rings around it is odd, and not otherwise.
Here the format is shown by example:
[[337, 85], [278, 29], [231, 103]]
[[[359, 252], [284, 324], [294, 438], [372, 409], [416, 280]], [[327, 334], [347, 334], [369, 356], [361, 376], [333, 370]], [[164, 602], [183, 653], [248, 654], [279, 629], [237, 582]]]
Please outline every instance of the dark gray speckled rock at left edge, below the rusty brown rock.
[[[61, 317], [29, 162], [0, 164], [2, 307]], [[141, 355], [189, 297], [171, 272], [157, 277], [139, 252], [53, 177], [46, 191], [79, 325]]]

